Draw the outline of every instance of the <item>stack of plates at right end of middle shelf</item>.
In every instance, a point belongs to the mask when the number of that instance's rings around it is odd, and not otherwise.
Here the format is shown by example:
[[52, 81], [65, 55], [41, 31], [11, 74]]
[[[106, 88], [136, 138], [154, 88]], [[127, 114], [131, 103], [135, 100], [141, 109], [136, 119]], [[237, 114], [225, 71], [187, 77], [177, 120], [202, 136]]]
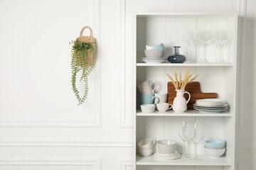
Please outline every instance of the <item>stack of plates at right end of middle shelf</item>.
[[223, 102], [218, 99], [200, 99], [196, 100], [193, 108], [200, 113], [221, 113], [228, 109], [228, 104], [223, 104]]

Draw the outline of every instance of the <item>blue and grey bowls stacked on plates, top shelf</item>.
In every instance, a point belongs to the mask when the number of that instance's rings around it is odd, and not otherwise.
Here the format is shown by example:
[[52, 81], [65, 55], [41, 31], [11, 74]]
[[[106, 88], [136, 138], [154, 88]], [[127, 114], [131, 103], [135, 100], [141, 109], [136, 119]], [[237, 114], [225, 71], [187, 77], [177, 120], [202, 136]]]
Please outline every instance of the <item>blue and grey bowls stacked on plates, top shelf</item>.
[[164, 59], [164, 43], [156, 46], [146, 45], [146, 50], [144, 50], [145, 56], [142, 57], [142, 61], [146, 63], [161, 63], [165, 62]]

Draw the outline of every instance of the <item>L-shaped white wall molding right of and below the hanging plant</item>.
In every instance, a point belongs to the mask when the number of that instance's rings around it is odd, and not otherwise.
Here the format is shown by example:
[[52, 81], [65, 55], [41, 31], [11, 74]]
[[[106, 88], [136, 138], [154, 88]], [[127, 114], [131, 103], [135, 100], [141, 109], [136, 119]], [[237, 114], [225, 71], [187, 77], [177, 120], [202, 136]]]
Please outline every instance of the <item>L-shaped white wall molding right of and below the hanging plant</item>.
[[95, 88], [92, 89], [95, 96], [95, 113], [93, 113], [92, 120], [70, 120], [70, 119], [52, 119], [47, 120], [35, 120], [35, 119], [6, 119], [1, 118], [0, 128], [101, 128], [102, 124], [102, 111], [101, 111], [101, 60], [100, 60], [100, 45], [101, 45], [101, 0], [92, 1], [92, 16], [94, 21], [94, 35], [97, 40], [97, 67], [95, 67], [95, 74], [93, 79], [95, 80]]

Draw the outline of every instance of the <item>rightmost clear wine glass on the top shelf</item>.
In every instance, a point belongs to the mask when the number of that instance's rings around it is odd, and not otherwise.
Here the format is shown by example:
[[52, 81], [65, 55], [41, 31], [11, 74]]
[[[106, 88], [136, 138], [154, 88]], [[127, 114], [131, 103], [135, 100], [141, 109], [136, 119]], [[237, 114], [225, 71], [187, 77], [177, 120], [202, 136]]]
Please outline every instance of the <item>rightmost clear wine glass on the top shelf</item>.
[[[214, 42], [217, 46], [220, 47], [220, 62], [225, 62], [223, 58], [223, 46], [231, 42], [232, 35], [230, 30], [216, 30], [214, 36]], [[217, 61], [217, 62], [218, 62]]]

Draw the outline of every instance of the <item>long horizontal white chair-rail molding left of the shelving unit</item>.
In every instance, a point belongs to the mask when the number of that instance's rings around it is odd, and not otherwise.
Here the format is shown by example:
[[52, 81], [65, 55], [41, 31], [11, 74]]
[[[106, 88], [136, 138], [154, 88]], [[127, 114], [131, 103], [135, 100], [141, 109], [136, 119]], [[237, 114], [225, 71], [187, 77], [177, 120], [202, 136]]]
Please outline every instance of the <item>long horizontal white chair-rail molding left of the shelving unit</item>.
[[98, 139], [28, 139], [12, 138], [0, 140], [0, 147], [133, 147], [132, 141], [119, 139], [102, 140]]

